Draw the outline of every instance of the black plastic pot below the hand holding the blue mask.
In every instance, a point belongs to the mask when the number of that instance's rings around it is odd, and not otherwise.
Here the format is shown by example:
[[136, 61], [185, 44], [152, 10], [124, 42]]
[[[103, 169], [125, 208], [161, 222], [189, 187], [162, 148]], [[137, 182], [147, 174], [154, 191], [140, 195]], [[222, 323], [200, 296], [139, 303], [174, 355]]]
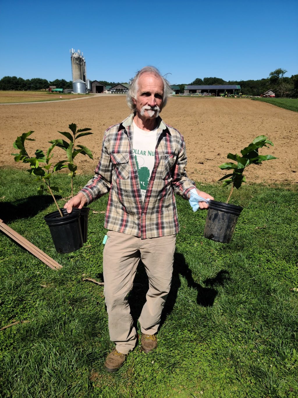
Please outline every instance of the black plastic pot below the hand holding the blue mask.
[[207, 220], [204, 229], [205, 238], [216, 242], [229, 243], [236, 222], [243, 207], [229, 203], [209, 201]]

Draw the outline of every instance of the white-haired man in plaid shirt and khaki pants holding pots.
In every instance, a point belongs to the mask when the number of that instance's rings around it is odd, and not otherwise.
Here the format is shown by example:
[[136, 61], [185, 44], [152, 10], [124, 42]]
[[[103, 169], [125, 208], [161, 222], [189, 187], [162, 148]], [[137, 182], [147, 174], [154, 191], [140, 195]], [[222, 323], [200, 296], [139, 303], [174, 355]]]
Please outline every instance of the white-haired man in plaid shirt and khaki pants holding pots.
[[[133, 113], [105, 131], [95, 176], [64, 206], [70, 213], [72, 207], [82, 208], [109, 192], [103, 275], [110, 339], [116, 348], [104, 363], [108, 372], [124, 363], [137, 342], [127, 295], [140, 259], [149, 278], [139, 317], [141, 350], [149, 353], [157, 347], [156, 333], [170, 291], [179, 228], [174, 193], [189, 199], [195, 189], [184, 170], [183, 137], [159, 117], [170, 94], [168, 81], [156, 68], [146, 66], [137, 72], [127, 94]], [[199, 202], [199, 207], [208, 205]]]

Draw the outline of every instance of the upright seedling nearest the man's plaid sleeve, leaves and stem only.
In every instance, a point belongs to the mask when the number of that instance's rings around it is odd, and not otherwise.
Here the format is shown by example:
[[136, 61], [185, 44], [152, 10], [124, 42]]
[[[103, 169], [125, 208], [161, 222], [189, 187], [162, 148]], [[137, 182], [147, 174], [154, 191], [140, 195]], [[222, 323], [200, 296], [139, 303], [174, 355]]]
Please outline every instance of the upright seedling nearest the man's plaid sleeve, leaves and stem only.
[[[71, 123], [70, 125], [68, 125], [68, 127], [69, 127], [70, 131], [72, 132], [72, 135], [70, 133], [68, 133], [67, 131], [58, 131], [58, 133], [64, 135], [64, 137], [66, 137], [69, 140], [69, 142], [66, 142], [65, 140], [62, 140], [62, 139], [52, 140], [49, 142], [50, 142], [50, 144], [56, 145], [59, 148], [64, 149], [66, 152], [68, 164], [64, 165], [64, 167], [68, 167], [68, 169], [70, 170], [68, 175], [71, 177], [71, 189], [72, 189], [72, 197], [73, 197], [74, 196], [73, 182], [74, 182], [74, 176], [77, 172], [77, 165], [74, 164], [75, 156], [77, 156], [79, 153], [81, 153], [82, 155], [89, 156], [89, 158], [93, 160], [91, 150], [88, 149], [84, 145], [77, 144], [77, 147], [75, 147], [75, 140], [77, 140], [80, 137], [83, 137], [84, 135], [89, 135], [89, 134], [93, 134], [93, 133], [91, 133], [90, 132], [91, 129], [88, 129], [88, 128], [87, 129], [77, 129], [77, 125], [75, 123]], [[64, 162], [64, 161], [62, 161], [62, 162]]]

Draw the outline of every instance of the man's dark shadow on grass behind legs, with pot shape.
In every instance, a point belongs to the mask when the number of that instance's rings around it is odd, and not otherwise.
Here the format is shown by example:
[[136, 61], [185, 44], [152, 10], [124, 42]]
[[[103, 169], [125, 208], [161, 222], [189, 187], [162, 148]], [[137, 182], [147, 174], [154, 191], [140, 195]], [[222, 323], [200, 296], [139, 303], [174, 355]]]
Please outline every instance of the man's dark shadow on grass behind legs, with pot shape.
[[[205, 279], [203, 283], [206, 287], [203, 287], [199, 283], [194, 281], [192, 277], [192, 270], [186, 263], [183, 254], [175, 253], [172, 285], [161, 315], [161, 325], [166, 320], [166, 317], [173, 311], [178, 295], [178, 290], [181, 286], [179, 277], [180, 275], [186, 279], [188, 287], [197, 290], [196, 302], [198, 305], [203, 307], [213, 306], [215, 297], [217, 296], [217, 290], [215, 289], [215, 287], [223, 286], [224, 283], [229, 281], [230, 279], [228, 276], [228, 271], [222, 270], [219, 271], [219, 273], [217, 273], [215, 277]], [[130, 310], [134, 319], [135, 328], [137, 328], [137, 319], [139, 318], [143, 305], [146, 302], [146, 293], [148, 287], [148, 277], [145, 271], [145, 267], [140, 261], [137, 267], [137, 273], [135, 275], [133, 289], [128, 296], [128, 302], [130, 304]]]

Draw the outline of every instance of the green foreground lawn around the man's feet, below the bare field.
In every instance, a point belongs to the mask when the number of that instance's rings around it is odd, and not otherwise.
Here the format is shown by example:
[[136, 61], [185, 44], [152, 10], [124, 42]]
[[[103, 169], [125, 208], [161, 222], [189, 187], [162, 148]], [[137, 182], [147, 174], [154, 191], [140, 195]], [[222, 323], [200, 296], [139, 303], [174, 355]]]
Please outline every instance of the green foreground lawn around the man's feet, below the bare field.
[[[67, 196], [67, 176], [56, 178]], [[77, 176], [75, 189], [87, 179]], [[219, 185], [201, 189], [226, 198]], [[82, 281], [102, 280], [107, 197], [90, 205], [88, 241], [70, 254], [55, 252], [43, 220], [54, 205], [29, 175], [0, 170], [0, 198], [0, 217], [63, 265], [53, 271], [0, 234], [0, 327], [30, 321], [0, 332], [0, 396], [298, 396], [296, 186], [236, 191], [231, 203], [244, 210], [230, 244], [203, 238], [207, 213], [177, 198], [181, 230], [159, 347], [135, 349], [113, 375], [103, 370], [113, 347], [103, 287]], [[146, 290], [140, 266], [129, 296], [134, 318]]]

